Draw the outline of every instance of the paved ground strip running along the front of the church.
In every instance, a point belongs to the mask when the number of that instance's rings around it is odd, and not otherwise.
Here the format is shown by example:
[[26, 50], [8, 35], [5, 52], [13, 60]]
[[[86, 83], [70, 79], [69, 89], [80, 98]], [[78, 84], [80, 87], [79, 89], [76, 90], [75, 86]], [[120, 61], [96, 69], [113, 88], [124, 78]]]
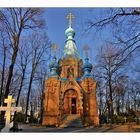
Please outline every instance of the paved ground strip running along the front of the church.
[[47, 133], [110, 133], [110, 132], [140, 132], [140, 126], [133, 126], [130, 127], [129, 125], [115, 125], [113, 127], [96, 127], [96, 128], [75, 128], [75, 127], [68, 127], [68, 128], [55, 128], [55, 127], [33, 127], [30, 125], [20, 125], [22, 128], [21, 133], [31, 133], [31, 132], [47, 132]]

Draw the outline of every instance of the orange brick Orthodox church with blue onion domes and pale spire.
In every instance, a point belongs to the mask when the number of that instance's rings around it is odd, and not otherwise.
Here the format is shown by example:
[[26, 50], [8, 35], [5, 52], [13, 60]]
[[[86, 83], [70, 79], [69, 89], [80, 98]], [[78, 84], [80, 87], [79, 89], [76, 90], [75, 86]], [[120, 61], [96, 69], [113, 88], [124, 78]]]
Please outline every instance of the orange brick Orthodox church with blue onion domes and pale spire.
[[70, 13], [66, 42], [62, 57], [50, 62], [50, 75], [46, 80], [43, 125], [60, 126], [65, 117], [79, 115], [83, 126], [99, 125], [96, 102], [96, 82], [89, 58], [80, 59], [72, 28], [74, 16]]

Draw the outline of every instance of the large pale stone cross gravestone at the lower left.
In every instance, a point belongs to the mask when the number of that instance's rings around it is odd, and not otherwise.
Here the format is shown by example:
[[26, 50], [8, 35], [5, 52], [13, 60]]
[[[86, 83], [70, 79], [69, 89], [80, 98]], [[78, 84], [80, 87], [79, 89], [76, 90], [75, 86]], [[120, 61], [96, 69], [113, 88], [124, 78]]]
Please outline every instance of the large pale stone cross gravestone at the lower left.
[[5, 111], [5, 126], [1, 132], [9, 132], [10, 128], [13, 127], [13, 122], [11, 122], [11, 113], [15, 111], [20, 112], [22, 107], [12, 107], [12, 104], [15, 103], [15, 99], [12, 99], [12, 96], [8, 96], [8, 98], [4, 100], [4, 103], [7, 103], [7, 106], [0, 107], [0, 111]]

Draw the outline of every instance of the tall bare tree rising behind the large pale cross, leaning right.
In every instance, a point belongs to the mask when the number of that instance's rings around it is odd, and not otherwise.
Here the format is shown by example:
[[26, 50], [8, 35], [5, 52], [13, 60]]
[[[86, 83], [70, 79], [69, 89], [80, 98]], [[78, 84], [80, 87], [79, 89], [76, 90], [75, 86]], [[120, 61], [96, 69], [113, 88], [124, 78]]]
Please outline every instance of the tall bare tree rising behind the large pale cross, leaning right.
[[13, 49], [4, 98], [9, 94], [9, 87], [13, 76], [13, 69], [17, 58], [21, 35], [25, 29], [42, 27], [44, 21], [41, 15], [42, 11], [39, 8], [0, 9], [0, 24], [5, 29]]

